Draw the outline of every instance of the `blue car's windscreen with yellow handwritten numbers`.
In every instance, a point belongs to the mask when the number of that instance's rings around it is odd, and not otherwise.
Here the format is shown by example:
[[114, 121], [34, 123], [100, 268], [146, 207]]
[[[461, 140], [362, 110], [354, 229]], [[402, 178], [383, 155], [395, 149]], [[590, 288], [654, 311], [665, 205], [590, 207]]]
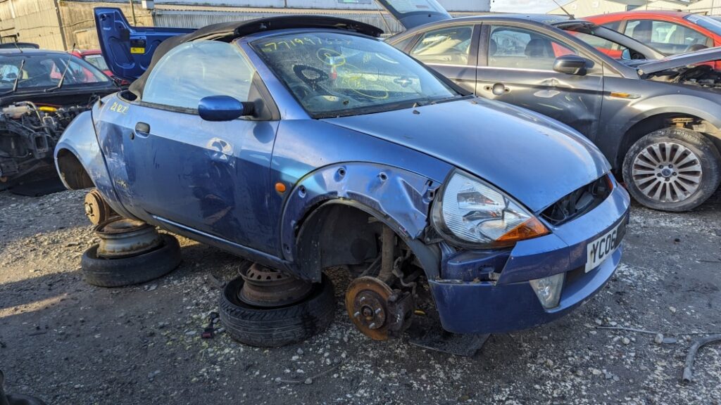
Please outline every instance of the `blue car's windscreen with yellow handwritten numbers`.
[[265, 37], [252, 46], [314, 117], [397, 110], [461, 95], [408, 55], [370, 37], [304, 32]]

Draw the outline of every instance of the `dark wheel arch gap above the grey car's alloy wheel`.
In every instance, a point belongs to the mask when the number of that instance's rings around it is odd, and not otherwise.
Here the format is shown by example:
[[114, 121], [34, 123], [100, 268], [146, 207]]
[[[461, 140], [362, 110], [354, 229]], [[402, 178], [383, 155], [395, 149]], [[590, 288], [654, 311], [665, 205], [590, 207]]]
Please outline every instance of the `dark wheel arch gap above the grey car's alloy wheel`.
[[613, 163], [613, 166], [620, 172], [626, 153], [636, 141], [655, 130], [673, 126], [696, 130], [713, 141], [717, 148], [721, 146], [721, 132], [714, 125], [711, 125], [711, 123], [702, 120], [702, 118], [678, 113], [659, 114], [640, 120], [626, 131], [623, 141], [619, 146], [618, 153], [616, 153], [616, 161], [611, 163]]

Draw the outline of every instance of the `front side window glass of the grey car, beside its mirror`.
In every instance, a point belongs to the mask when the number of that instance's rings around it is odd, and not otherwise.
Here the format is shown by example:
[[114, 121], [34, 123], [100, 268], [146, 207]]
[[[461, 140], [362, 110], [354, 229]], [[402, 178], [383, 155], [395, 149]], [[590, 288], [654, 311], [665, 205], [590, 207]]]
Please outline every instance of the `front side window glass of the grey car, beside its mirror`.
[[491, 27], [488, 41], [488, 66], [553, 70], [561, 55], [576, 51], [546, 35], [516, 27]]

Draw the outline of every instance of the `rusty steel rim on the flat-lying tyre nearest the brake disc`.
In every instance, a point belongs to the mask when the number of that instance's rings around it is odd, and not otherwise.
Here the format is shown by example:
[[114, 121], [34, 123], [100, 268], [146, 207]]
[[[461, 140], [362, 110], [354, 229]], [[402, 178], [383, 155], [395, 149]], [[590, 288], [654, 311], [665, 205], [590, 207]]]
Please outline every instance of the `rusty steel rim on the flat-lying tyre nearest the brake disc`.
[[238, 298], [244, 303], [264, 308], [286, 306], [306, 298], [313, 289], [311, 282], [254, 263], [241, 271], [243, 287]]

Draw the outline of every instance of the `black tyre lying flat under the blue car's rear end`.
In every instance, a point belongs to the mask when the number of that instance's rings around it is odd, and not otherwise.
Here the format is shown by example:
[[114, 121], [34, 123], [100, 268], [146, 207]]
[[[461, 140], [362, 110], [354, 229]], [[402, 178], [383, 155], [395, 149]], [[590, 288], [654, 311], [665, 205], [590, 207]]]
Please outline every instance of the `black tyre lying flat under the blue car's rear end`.
[[98, 245], [93, 245], [80, 262], [85, 282], [98, 287], [123, 287], [167, 275], [180, 264], [180, 244], [172, 235], [160, 236], [163, 244], [158, 249], [119, 259], [97, 257]]

